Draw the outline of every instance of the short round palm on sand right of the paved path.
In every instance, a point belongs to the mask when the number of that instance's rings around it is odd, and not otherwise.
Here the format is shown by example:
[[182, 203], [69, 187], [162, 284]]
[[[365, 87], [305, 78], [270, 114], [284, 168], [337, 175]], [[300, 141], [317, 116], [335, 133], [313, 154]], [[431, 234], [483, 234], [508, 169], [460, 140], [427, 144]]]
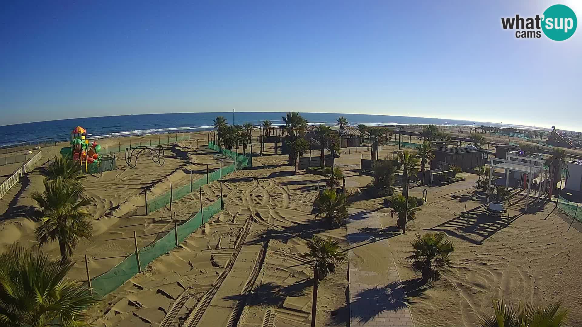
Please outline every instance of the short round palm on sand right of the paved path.
[[406, 259], [412, 261], [415, 271], [422, 273], [425, 282], [438, 280], [441, 273], [436, 268], [451, 264], [449, 256], [455, 251], [455, 244], [445, 237], [445, 232], [416, 234], [416, 240], [410, 243], [414, 251]]

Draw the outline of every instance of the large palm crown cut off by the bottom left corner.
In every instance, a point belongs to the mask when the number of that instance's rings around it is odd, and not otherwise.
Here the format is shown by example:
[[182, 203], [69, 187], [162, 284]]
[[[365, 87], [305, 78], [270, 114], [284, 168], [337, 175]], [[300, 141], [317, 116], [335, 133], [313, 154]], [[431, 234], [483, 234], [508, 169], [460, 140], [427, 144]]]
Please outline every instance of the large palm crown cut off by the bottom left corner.
[[55, 262], [40, 250], [13, 244], [0, 256], [0, 325], [86, 326], [91, 291], [66, 278], [73, 262]]

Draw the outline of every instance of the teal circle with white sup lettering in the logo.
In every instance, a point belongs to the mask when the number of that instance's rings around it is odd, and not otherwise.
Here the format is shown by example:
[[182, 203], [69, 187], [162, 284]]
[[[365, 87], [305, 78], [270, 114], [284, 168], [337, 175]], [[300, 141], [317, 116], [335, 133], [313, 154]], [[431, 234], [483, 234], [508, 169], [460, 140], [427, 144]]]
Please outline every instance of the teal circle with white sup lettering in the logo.
[[576, 31], [578, 20], [574, 10], [565, 5], [553, 5], [545, 10], [542, 31], [554, 41], [564, 41]]

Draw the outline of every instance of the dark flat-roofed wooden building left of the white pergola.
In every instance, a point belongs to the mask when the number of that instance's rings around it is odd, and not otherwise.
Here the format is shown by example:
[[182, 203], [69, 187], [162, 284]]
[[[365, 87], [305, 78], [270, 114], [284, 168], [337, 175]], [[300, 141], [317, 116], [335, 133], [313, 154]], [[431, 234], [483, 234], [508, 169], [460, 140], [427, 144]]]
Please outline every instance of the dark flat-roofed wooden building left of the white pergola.
[[437, 169], [448, 163], [463, 169], [473, 169], [484, 166], [491, 150], [481, 150], [469, 147], [437, 148], [432, 152], [435, 158], [431, 162], [431, 168]]

